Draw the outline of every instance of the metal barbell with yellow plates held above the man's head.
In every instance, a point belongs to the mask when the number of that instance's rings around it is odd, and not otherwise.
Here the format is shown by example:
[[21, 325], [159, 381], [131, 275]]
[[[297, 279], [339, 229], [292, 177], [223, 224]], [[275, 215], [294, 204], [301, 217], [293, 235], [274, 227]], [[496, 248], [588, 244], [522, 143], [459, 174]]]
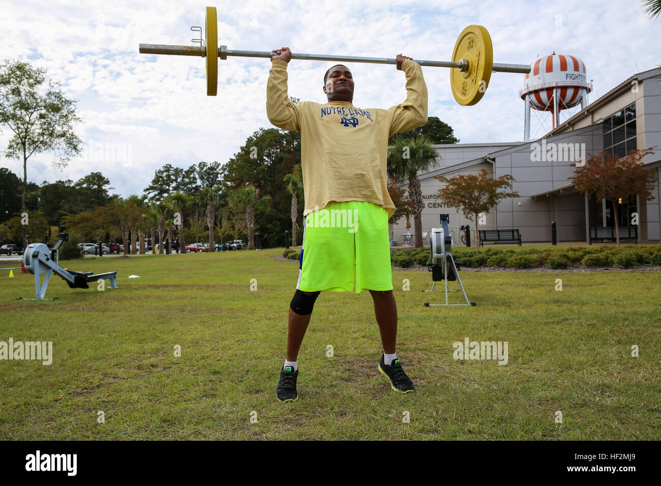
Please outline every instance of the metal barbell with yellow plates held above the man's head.
[[[140, 44], [141, 54], [169, 54], [173, 56], [201, 56], [206, 58], [207, 95], [215, 96], [218, 89], [218, 60], [227, 56], [243, 58], [272, 58], [275, 52], [228, 50], [218, 46], [218, 24], [215, 7], [206, 7], [204, 45], [167, 46]], [[200, 43], [202, 44], [202, 43]], [[362, 58], [357, 56], [327, 56], [325, 54], [292, 54], [292, 59], [308, 61], [346, 61], [373, 64], [397, 64], [395, 58]], [[449, 67], [452, 95], [459, 104], [475, 104], [483, 97], [492, 71], [500, 73], [529, 73], [525, 64], [497, 64], [493, 62], [491, 36], [481, 25], [469, 25], [459, 34], [451, 61], [414, 61], [422, 66]]]

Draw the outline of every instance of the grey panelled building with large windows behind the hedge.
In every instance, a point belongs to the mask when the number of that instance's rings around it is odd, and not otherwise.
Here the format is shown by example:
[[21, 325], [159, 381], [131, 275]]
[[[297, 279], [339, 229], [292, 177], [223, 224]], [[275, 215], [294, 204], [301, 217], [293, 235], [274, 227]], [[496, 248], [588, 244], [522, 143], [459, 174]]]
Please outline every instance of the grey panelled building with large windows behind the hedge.
[[[441, 182], [436, 175], [453, 177], [494, 171], [495, 177], [510, 174], [519, 198], [508, 198], [490, 214], [479, 229], [520, 230], [524, 242], [551, 241], [551, 222], [557, 224], [558, 241], [588, 241], [589, 228], [614, 226], [611, 208], [618, 204], [620, 227], [631, 225], [639, 215], [637, 241], [656, 243], [661, 239], [661, 72], [650, 69], [623, 81], [598, 100], [588, 104], [539, 140], [517, 143], [435, 145], [438, 168], [419, 174], [423, 197], [423, 231], [439, 226], [439, 214], [450, 215], [449, 227], [457, 241], [459, 227], [469, 222], [456, 208], [438, 202]], [[621, 156], [632, 148], [655, 147], [644, 159], [644, 167], [656, 175], [653, 200], [641, 196], [628, 201], [597, 201], [576, 190], [568, 180], [572, 163], [607, 151]], [[405, 182], [406, 184], [406, 182]], [[605, 214], [605, 218], [603, 218]], [[391, 225], [391, 235], [401, 244], [407, 233], [404, 218]], [[472, 231], [471, 231], [472, 233]], [[474, 236], [471, 235], [474, 241]]]

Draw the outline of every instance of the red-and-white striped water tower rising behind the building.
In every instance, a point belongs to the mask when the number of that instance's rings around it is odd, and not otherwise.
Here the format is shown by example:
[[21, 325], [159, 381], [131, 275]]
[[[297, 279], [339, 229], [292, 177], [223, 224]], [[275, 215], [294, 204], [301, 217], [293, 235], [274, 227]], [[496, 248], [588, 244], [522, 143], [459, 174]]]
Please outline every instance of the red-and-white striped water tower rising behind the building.
[[538, 59], [525, 75], [520, 95], [525, 101], [525, 142], [530, 140], [530, 108], [551, 112], [553, 128], [560, 124], [560, 111], [580, 103], [588, 105], [588, 83], [585, 63], [574, 56], [551, 54]]

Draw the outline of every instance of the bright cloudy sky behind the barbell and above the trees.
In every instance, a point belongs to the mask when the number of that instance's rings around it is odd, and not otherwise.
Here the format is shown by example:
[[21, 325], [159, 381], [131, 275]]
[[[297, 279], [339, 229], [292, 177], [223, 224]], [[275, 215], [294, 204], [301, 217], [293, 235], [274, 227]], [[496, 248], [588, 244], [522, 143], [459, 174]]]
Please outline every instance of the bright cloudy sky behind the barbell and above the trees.
[[[190, 26], [204, 24], [204, 7], [218, 11], [219, 44], [228, 49], [449, 60], [459, 32], [484, 25], [494, 62], [533, 63], [555, 51], [586, 63], [590, 101], [639, 71], [661, 63], [661, 19], [649, 20], [639, 0], [608, 1], [7, 1], [0, 0], [0, 60], [30, 61], [61, 81], [77, 100], [87, 146], [128, 147], [130, 161], [79, 157], [59, 171], [54, 155], [32, 155], [28, 179], [77, 180], [101, 171], [122, 196], [141, 194], [165, 163], [188, 167], [224, 163], [258, 128], [268, 128], [266, 80], [270, 60], [220, 61], [216, 97], [207, 97], [204, 59], [149, 56], [138, 44], [191, 45]], [[324, 102], [331, 63], [292, 60], [289, 93]], [[404, 101], [405, 77], [393, 65], [350, 65], [354, 104], [387, 108]], [[524, 135], [524, 75], [493, 73], [485, 97], [459, 106], [449, 71], [423, 68], [429, 114], [455, 130], [461, 143], [515, 142]], [[563, 119], [566, 118], [563, 114]], [[541, 120], [550, 123], [548, 114]], [[532, 118], [533, 136], [545, 133]], [[0, 128], [0, 151], [11, 132]], [[108, 146], [108, 145], [106, 145]], [[92, 160], [88, 160], [92, 159]], [[22, 162], [0, 152], [0, 165], [22, 177]]]

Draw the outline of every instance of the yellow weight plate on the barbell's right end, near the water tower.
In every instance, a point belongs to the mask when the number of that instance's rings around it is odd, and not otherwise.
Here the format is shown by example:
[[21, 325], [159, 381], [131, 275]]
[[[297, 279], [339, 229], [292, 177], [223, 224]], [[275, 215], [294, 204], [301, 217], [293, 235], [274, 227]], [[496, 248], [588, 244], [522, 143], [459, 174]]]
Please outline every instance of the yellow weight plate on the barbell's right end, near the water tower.
[[459, 104], [475, 104], [483, 97], [491, 79], [493, 46], [491, 36], [481, 25], [469, 25], [459, 34], [452, 61], [468, 61], [468, 69], [450, 68], [452, 94]]

